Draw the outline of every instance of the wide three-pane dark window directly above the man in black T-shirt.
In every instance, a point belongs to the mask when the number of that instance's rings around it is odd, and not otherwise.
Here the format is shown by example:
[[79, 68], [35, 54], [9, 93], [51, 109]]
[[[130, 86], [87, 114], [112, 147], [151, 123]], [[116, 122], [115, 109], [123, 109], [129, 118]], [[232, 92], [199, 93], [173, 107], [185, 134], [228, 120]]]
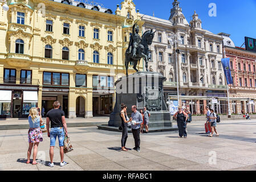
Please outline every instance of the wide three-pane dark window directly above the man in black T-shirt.
[[70, 76], [68, 73], [43, 72], [44, 85], [64, 85], [68, 86]]

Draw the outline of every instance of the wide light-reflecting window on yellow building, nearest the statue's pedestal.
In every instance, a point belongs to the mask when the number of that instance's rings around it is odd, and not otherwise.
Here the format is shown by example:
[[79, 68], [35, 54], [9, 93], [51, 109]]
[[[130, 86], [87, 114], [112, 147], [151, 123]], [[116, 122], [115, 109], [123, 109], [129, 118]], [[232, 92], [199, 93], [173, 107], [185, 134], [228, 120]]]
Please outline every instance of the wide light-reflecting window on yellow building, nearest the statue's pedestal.
[[114, 79], [111, 76], [93, 75], [92, 76], [92, 86], [94, 88], [97, 88], [99, 86], [113, 88], [114, 87]]

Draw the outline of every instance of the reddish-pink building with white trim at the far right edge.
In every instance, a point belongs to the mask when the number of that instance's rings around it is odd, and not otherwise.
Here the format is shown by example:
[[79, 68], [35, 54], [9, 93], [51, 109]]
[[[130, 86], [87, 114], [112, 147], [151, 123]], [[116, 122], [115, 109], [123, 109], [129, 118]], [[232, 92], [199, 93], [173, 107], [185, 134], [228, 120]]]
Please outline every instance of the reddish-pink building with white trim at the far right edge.
[[229, 85], [230, 111], [233, 114], [256, 113], [256, 52], [235, 47], [229, 34], [224, 37], [226, 57], [230, 57], [233, 84]]

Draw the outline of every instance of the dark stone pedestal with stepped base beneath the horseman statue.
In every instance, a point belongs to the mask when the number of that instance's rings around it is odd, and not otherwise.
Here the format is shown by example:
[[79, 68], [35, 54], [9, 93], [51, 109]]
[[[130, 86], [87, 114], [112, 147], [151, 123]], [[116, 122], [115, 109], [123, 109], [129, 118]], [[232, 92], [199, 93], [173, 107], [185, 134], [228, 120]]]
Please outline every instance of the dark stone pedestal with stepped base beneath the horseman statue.
[[128, 107], [128, 117], [131, 117], [133, 105], [137, 106], [138, 111], [147, 107], [151, 113], [149, 131], [176, 130], [172, 127], [170, 113], [164, 101], [162, 83], [165, 80], [166, 78], [157, 72], [137, 72], [119, 78], [115, 82], [116, 102], [113, 113], [109, 117], [108, 126], [100, 126], [99, 129], [118, 130], [121, 126], [121, 104], [124, 104]]

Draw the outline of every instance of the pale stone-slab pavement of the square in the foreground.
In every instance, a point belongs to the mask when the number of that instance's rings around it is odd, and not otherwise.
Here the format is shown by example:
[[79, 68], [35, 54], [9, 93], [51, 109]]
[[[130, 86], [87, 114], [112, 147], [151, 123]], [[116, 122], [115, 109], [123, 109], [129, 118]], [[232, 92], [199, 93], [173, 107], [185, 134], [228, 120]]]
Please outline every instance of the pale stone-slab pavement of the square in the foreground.
[[[141, 152], [120, 151], [121, 133], [97, 130], [97, 127], [73, 127], [68, 133], [74, 147], [64, 156], [67, 166], [59, 167], [59, 147], [55, 147], [53, 168], [50, 140], [44, 133], [39, 144], [35, 166], [26, 164], [27, 130], [0, 131], [1, 170], [109, 170], [109, 171], [172, 171], [172, 170], [256, 170], [256, 120], [221, 121], [220, 137], [207, 137], [204, 122], [188, 124], [188, 138], [177, 138], [177, 131], [141, 135]], [[58, 142], [56, 142], [58, 146]], [[134, 147], [128, 134], [127, 147]], [[216, 158], [214, 158], [216, 156]]]

